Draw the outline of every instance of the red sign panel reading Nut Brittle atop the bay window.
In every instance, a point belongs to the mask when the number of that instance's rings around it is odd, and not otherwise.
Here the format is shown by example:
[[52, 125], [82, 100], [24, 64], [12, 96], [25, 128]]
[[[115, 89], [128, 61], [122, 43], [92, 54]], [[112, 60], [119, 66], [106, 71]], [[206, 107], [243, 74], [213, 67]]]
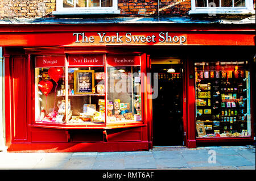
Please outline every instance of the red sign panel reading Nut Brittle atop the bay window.
[[103, 54], [69, 54], [68, 66], [104, 66]]

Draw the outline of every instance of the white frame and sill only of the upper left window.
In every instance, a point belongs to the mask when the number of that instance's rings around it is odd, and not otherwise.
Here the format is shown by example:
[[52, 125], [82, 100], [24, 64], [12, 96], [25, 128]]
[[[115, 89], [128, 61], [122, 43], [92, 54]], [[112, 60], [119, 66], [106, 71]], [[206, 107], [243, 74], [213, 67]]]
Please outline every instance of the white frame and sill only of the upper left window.
[[[73, 0], [73, 2], [76, 0]], [[101, 2], [101, 1], [100, 1]], [[79, 14], [120, 14], [118, 0], [113, 0], [112, 7], [63, 7], [63, 0], [56, 0], [56, 11], [53, 15], [79, 15]]]

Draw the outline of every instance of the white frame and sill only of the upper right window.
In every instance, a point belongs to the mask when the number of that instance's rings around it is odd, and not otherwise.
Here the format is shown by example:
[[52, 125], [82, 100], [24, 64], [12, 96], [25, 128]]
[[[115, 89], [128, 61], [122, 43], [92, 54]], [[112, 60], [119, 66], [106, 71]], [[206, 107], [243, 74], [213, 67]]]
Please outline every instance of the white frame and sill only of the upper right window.
[[255, 10], [253, 9], [253, 0], [245, 0], [245, 7], [196, 7], [196, 0], [191, 0], [191, 11], [189, 11], [189, 14], [255, 14]]

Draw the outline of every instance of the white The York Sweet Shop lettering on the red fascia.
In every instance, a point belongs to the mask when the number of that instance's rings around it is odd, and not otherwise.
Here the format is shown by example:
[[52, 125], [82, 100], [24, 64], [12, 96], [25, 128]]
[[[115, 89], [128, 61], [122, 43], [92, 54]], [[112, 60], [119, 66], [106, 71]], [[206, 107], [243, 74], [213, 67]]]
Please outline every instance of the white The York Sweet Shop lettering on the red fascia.
[[[97, 33], [100, 40], [98, 43], [175, 43], [181, 44], [187, 41], [185, 36], [170, 36], [168, 32], [160, 32], [158, 39], [155, 35], [151, 36], [133, 36], [132, 33], [126, 33], [125, 36], [120, 36], [117, 32], [115, 36], [107, 36], [106, 33]], [[73, 33], [75, 43], [94, 43], [94, 36], [86, 36], [84, 32]]]

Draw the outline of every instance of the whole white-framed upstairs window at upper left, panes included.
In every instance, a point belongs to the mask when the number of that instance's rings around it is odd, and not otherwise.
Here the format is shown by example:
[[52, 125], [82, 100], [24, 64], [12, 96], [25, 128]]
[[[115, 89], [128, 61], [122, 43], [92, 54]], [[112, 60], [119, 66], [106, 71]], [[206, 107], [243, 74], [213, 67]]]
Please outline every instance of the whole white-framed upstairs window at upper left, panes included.
[[56, 0], [53, 15], [120, 14], [117, 0]]

